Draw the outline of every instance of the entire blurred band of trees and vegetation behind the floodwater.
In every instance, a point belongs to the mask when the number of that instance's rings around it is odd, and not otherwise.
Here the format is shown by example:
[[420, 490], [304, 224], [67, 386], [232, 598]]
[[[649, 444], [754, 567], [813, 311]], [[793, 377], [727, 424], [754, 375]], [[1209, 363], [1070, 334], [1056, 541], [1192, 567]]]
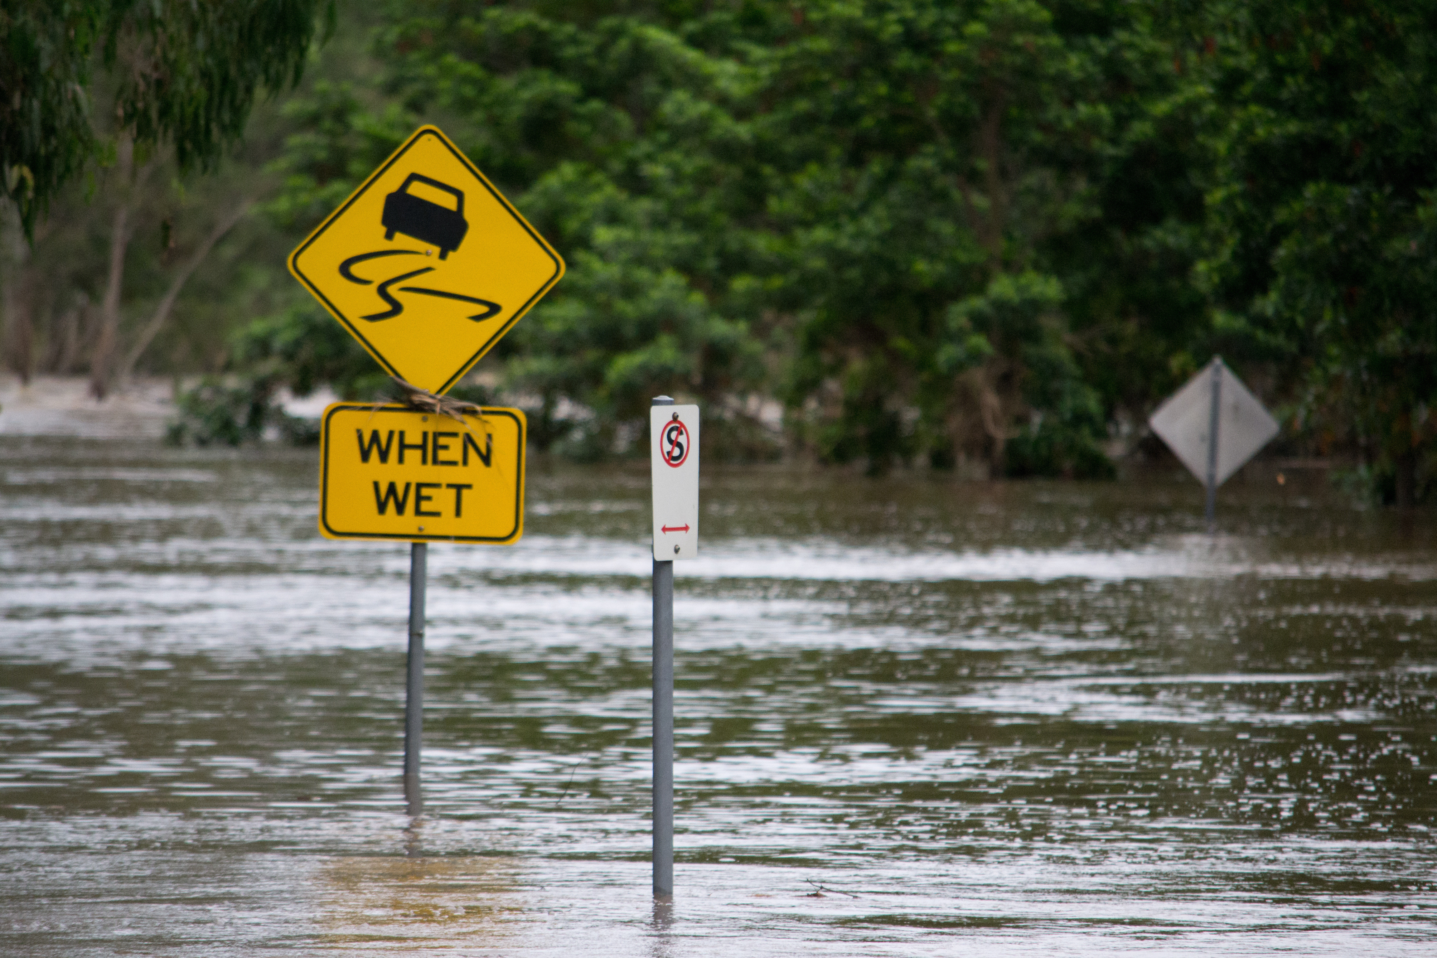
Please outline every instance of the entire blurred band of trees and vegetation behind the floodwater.
[[1427, 0], [9, 0], [0, 49], [4, 365], [174, 376], [175, 441], [387, 392], [285, 256], [433, 122], [569, 264], [458, 388], [540, 448], [667, 392], [713, 457], [1106, 477], [1217, 352], [1437, 497]]

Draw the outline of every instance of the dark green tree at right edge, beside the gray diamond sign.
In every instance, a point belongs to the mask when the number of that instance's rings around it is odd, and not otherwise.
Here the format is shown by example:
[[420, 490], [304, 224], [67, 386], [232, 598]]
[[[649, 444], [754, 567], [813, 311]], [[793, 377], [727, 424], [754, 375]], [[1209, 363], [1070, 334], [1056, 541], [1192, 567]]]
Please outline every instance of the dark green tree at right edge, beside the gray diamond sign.
[[1219, 333], [1283, 369], [1305, 425], [1410, 506], [1437, 465], [1437, 7], [1244, 0], [1201, 23]]

